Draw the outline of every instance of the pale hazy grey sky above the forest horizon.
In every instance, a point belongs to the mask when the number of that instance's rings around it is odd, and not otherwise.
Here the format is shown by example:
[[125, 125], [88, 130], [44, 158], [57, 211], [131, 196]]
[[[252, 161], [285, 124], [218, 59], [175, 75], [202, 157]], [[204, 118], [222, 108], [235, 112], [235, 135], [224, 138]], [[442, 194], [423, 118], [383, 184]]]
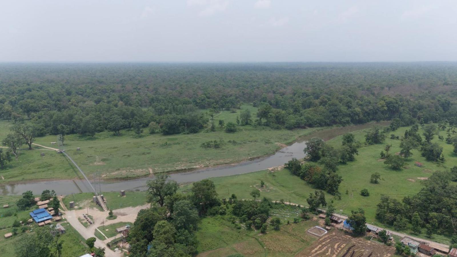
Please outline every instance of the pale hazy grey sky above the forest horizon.
[[457, 61], [457, 1], [1, 0], [11, 61]]

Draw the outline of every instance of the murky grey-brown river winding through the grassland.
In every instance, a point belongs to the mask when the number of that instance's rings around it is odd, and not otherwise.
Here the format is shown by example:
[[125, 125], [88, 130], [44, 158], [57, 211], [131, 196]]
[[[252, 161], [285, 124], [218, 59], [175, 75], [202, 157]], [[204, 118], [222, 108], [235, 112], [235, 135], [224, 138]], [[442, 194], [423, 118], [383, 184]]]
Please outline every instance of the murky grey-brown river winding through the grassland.
[[[179, 173], [171, 173], [170, 179], [178, 183], [195, 182], [208, 177], [223, 177], [230, 175], [243, 174], [253, 171], [261, 171], [270, 167], [280, 166], [291, 160], [292, 157], [297, 159], [303, 158], [305, 155], [303, 149], [306, 147], [306, 140], [313, 137], [319, 137], [324, 140], [332, 139], [338, 135], [353, 132], [360, 129], [367, 129], [374, 126], [386, 126], [389, 122], [369, 123], [361, 125], [352, 125], [346, 127], [337, 127], [332, 129], [324, 129], [314, 132], [301, 141], [289, 145], [275, 154], [255, 159], [252, 161], [244, 161], [235, 165], [216, 166], [211, 168], [203, 168], [194, 171], [186, 171]], [[116, 182], [101, 182], [96, 183], [97, 192], [111, 192], [120, 190], [145, 190], [146, 181], [153, 178], [142, 177], [138, 179], [123, 180]], [[1, 195], [19, 195], [27, 190], [32, 190], [34, 194], [41, 194], [45, 189], [53, 189], [58, 195], [67, 195], [71, 193], [92, 192], [92, 189], [85, 180], [58, 180], [58, 181], [40, 181], [27, 183], [12, 183], [0, 185]]]

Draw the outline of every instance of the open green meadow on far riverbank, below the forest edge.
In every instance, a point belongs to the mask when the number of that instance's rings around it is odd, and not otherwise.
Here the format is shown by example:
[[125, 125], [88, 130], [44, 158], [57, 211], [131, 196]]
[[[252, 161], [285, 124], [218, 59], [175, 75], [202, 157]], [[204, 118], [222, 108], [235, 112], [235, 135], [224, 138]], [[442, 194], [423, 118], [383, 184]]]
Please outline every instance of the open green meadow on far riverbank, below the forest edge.
[[[249, 108], [255, 118], [256, 108]], [[236, 113], [222, 111], [215, 114], [214, 122], [219, 119], [225, 123], [235, 122]], [[202, 112], [207, 112], [206, 110]], [[9, 133], [12, 122], [0, 121], [0, 138]], [[271, 129], [268, 127], [239, 126], [236, 133], [226, 133], [223, 129], [210, 132], [203, 129], [197, 134], [178, 134], [164, 136], [148, 134], [144, 129], [138, 137], [131, 130], [123, 130], [121, 136], [112, 132], [97, 133], [93, 138], [79, 134], [65, 136], [65, 150], [86, 174], [101, 174], [101, 178], [128, 179], [143, 177], [150, 172], [186, 170], [203, 166], [237, 163], [250, 158], [268, 155], [281, 146], [290, 144], [299, 137], [310, 134], [315, 129]], [[207, 141], [223, 140], [223, 146], [218, 149], [202, 148], [200, 145]], [[57, 136], [48, 135], [37, 138], [35, 143], [48, 147], [57, 141]], [[228, 142], [230, 141], [230, 142]], [[80, 147], [80, 151], [76, 148]], [[82, 178], [80, 172], [63, 156], [53, 150], [24, 150], [20, 151], [18, 161], [8, 163], [0, 176], [5, 182], [27, 180], [49, 180]], [[40, 156], [40, 153], [45, 156]]]

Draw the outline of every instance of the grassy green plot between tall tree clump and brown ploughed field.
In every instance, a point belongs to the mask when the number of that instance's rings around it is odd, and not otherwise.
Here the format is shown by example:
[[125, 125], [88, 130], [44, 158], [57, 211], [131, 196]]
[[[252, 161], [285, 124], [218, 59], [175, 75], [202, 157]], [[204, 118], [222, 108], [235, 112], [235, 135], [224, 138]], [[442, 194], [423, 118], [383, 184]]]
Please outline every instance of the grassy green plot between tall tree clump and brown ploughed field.
[[[283, 223], [285, 224], [285, 223]], [[315, 237], [306, 233], [318, 225], [308, 220], [298, 224], [282, 225], [281, 230], [269, 228], [265, 235], [255, 230], [237, 229], [224, 216], [202, 219], [197, 230], [200, 256], [294, 256], [308, 247]]]

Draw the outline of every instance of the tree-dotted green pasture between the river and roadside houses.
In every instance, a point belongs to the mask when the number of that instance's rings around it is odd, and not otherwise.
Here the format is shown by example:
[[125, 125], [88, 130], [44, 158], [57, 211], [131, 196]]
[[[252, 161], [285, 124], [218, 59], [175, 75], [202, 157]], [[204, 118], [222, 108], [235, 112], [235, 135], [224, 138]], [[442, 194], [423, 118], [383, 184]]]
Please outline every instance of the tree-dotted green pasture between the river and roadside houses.
[[[452, 152], [452, 145], [438, 140], [438, 137], [435, 136], [433, 142], [437, 142], [443, 147], [446, 158], [444, 165], [425, 161], [425, 158], [420, 156], [419, 150], [413, 150], [413, 156], [407, 159], [406, 168], [401, 171], [391, 170], [383, 163], [383, 160], [380, 160], [380, 152], [386, 144], [392, 144], [391, 153], [399, 152], [400, 140], [390, 139], [390, 134], [401, 137], [406, 129], [409, 128], [404, 127], [393, 133], [388, 133], [388, 138], [380, 145], [363, 145], [366, 130], [354, 132], [356, 139], [362, 142], [359, 155], [356, 155], [356, 161], [338, 166], [337, 172], [343, 177], [343, 182], [340, 184], [341, 200], [326, 193], [327, 203], [333, 201], [336, 211], [345, 215], [350, 215], [351, 210], [362, 208], [365, 210], [367, 222], [385, 226], [375, 219], [376, 205], [381, 196], [386, 195], [401, 201], [405, 196], [412, 196], [419, 192], [422, 187], [422, 180], [419, 178], [430, 177], [431, 173], [436, 170], [457, 166], [457, 156]], [[422, 132], [420, 129], [419, 133], [422, 134]], [[440, 131], [440, 133], [445, 135], [444, 131]], [[328, 143], [334, 145], [335, 148], [339, 147], [341, 136], [329, 140]], [[414, 166], [415, 161], [422, 162], [425, 166]], [[374, 172], [381, 174], [379, 184], [370, 183], [371, 174]], [[250, 192], [254, 187], [260, 187], [261, 180], [266, 183], [266, 187], [260, 190], [260, 197], [271, 200], [282, 199], [285, 202], [307, 205], [306, 198], [308, 198], [309, 193], [315, 190], [312, 185], [293, 176], [287, 170], [257, 171], [228, 177], [216, 177], [211, 180], [216, 184], [216, 190], [221, 198], [228, 198], [232, 193], [235, 193], [238, 198], [252, 199]], [[181, 187], [181, 191], [187, 192], [190, 187], [191, 185]], [[362, 188], [367, 188], [370, 196], [361, 196]], [[345, 193], [346, 190], [348, 191], [347, 194]], [[409, 233], [411, 231], [404, 232]], [[420, 236], [425, 237], [425, 234]], [[435, 240], [449, 242], [448, 238], [441, 235], [435, 235]]]

